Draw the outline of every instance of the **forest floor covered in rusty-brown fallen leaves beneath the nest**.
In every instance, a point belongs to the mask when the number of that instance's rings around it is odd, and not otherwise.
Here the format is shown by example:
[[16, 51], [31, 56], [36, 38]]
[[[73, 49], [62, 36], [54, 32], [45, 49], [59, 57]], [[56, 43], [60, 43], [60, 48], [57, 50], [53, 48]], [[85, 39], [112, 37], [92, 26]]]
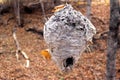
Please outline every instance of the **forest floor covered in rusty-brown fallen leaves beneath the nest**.
[[[84, 9], [74, 6], [78, 11], [85, 13]], [[92, 6], [91, 21], [97, 28], [96, 37], [99, 33], [108, 30], [109, 27], [109, 5]], [[47, 16], [53, 13], [50, 10]], [[68, 74], [63, 74], [51, 60], [45, 60], [40, 51], [46, 49], [43, 35], [40, 31], [44, 26], [44, 19], [40, 11], [32, 14], [24, 14], [25, 25], [17, 27], [17, 38], [23, 51], [30, 58], [30, 67], [23, 65], [25, 59], [20, 54], [19, 61], [16, 60], [16, 45], [12, 36], [12, 30], [16, 25], [14, 19], [9, 18], [11, 13], [2, 15], [4, 24], [0, 24], [0, 80], [104, 80], [106, 73], [106, 41], [102, 37], [94, 41], [92, 52], [84, 52], [75, 68]], [[32, 31], [31, 29], [37, 30]], [[117, 53], [120, 53], [118, 50]], [[116, 60], [116, 79], [120, 80], [120, 54]]]

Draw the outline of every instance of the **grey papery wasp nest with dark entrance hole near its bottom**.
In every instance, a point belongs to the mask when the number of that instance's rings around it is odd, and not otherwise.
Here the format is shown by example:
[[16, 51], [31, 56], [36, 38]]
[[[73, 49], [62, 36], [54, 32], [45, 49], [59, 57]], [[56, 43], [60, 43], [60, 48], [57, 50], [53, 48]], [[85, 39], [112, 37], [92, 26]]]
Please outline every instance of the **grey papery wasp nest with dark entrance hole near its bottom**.
[[95, 33], [94, 25], [69, 4], [54, 13], [44, 26], [51, 57], [62, 71], [73, 68]]

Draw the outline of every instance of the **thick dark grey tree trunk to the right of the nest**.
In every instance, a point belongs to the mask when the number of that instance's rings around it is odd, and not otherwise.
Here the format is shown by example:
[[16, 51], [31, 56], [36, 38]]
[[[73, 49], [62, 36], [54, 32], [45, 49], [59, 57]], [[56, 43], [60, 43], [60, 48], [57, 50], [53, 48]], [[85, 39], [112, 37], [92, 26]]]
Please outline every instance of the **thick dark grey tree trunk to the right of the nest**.
[[115, 80], [115, 59], [116, 51], [118, 46], [118, 29], [120, 24], [120, 14], [119, 14], [119, 0], [110, 0], [110, 26], [108, 33], [108, 49], [107, 49], [107, 80]]

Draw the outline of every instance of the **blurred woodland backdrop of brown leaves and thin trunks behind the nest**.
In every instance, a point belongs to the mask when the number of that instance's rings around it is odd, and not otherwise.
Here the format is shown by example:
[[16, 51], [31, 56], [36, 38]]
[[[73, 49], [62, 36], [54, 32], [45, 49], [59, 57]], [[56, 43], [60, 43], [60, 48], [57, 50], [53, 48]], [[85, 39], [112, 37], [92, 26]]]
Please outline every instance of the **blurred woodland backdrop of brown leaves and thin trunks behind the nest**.
[[[61, 73], [54, 62], [40, 55], [40, 51], [47, 48], [43, 38], [44, 24], [54, 14], [56, 6], [66, 3], [88, 17], [97, 29], [93, 44], [85, 50], [69, 74]], [[109, 0], [0, 0], [0, 80], [105, 79], [109, 18]], [[14, 28], [21, 49], [29, 56], [29, 68], [23, 66], [25, 59], [21, 54], [19, 61], [16, 60], [17, 48], [12, 36]], [[119, 61], [117, 56], [118, 80]]]

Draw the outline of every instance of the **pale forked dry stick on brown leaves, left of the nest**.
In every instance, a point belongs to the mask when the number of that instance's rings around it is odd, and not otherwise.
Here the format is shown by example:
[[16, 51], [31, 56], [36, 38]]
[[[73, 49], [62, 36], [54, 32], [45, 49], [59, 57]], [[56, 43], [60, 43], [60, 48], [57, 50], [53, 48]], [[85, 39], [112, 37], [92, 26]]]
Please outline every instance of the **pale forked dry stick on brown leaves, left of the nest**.
[[15, 41], [16, 47], [17, 47], [17, 50], [16, 50], [17, 60], [19, 60], [18, 53], [22, 53], [23, 57], [26, 59], [25, 67], [29, 67], [29, 65], [30, 65], [29, 57], [27, 56], [27, 54], [24, 51], [21, 50], [21, 47], [20, 47], [19, 42], [16, 37], [16, 29], [13, 30], [13, 38], [14, 38], [14, 41]]

